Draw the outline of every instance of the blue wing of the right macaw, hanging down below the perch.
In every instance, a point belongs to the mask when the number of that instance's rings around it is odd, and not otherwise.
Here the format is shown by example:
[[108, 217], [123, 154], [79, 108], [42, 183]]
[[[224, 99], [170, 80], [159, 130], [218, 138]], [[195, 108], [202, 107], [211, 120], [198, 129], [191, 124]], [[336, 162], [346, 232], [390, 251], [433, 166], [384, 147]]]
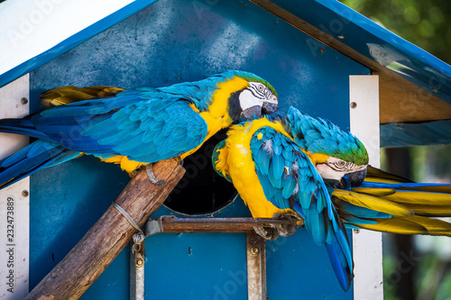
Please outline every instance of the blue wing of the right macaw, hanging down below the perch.
[[[336, 277], [347, 290], [353, 277], [353, 261], [345, 225], [336, 214], [315, 166], [294, 141], [271, 127], [254, 132], [251, 150], [266, 198], [273, 205], [291, 208], [304, 218], [314, 241], [327, 245]], [[291, 207], [290, 199], [294, 200]]]

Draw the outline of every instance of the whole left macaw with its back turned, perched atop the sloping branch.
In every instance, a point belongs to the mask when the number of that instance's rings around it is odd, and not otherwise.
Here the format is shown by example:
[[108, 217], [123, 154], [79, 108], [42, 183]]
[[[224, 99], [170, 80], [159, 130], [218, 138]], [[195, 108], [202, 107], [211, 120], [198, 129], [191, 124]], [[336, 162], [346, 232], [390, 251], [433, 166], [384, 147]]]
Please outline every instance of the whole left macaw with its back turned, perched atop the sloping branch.
[[0, 121], [0, 132], [38, 139], [0, 160], [0, 186], [84, 154], [129, 173], [162, 159], [184, 159], [237, 120], [272, 114], [278, 98], [261, 77], [230, 70], [159, 88], [65, 86], [44, 93], [41, 103], [55, 107]]

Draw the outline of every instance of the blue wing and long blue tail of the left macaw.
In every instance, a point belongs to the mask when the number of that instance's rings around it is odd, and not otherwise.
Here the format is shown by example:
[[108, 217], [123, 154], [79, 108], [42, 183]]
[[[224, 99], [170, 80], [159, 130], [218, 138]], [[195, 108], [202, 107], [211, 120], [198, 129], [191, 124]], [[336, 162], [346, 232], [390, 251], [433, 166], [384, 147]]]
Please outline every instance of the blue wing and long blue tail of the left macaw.
[[0, 186], [76, 158], [80, 152], [154, 162], [195, 149], [207, 137], [207, 123], [190, 104], [198, 106], [199, 101], [142, 88], [114, 98], [53, 107], [21, 120], [2, 120], [0, 131], [40, 141], [0, 161]]

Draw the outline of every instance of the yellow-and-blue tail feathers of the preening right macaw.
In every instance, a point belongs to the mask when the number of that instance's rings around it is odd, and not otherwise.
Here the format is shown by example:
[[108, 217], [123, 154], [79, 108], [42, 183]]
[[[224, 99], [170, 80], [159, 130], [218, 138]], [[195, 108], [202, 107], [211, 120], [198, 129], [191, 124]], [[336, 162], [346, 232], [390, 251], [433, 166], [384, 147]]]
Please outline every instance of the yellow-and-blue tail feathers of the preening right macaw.
[[361, 186], [331, 191], [346, 227], [400, 234], [451, 236], [451, 185], [415, 183], [368, 168]]

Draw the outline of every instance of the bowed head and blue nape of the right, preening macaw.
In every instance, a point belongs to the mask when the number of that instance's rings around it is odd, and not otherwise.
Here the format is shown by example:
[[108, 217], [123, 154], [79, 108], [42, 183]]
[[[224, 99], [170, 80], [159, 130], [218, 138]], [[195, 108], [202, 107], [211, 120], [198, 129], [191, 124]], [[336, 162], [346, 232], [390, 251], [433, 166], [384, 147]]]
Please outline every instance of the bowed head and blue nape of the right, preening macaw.
[[366, 176], [368, 152], [351, 132], [327, 120], [312, 118], [290, 107], [286, 126], [294, 141], [316, 162], [328, 186], [360, 186]]

